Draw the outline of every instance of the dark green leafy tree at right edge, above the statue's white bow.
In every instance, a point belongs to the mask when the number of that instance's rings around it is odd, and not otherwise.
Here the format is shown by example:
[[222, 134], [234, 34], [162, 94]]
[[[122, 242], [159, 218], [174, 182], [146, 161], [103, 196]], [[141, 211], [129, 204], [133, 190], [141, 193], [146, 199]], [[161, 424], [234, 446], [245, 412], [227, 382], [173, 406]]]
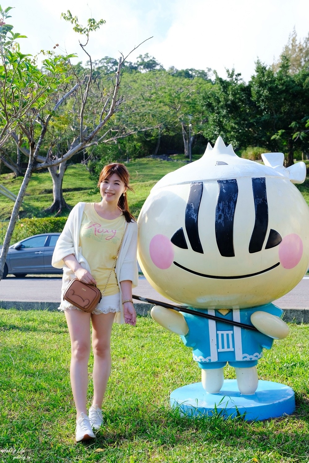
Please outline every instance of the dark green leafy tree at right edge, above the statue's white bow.
[[287, 152], [288, 166], [294, 163], [295, 150], [309, 149], [308, 82], [309, 70], [291, 74], [289, 59], [284, 57], [277, 72], [258, 62], [250, 83], [260, 139], [270, 150]]

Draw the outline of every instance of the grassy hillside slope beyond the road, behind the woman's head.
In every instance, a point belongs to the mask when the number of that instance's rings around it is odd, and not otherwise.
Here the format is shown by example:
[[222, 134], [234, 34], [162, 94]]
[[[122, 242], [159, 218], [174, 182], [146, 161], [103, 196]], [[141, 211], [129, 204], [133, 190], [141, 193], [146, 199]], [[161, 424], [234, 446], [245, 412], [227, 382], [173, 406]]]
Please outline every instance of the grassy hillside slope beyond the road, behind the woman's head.
[[[200, 156], [194, 156], [196, 160]], [[173, 157], [171, 161], [158, 159], [137, 159], [127, 163], [132, 176], [131, 186], [135, 194], [128, 190], [128, 201], [133, 215], [137, 218], [153, 185], [164, 175], [179, 169], [186, 163], [183, 156]], [[13, 178], [13, 174], [0, 175], [0, 184], [14, 194], [18, 194], [23, 178]], [[309, 177], [302, 185], [298, 185], [303, 197], [309, 204]], [[96, 181], [91, 179], [88, 170], [81, 164], [69, 165], [63, 178], [63, 194], [66, 202], [74, 206], [78, 201], [100, 201], [100, 194], [96, 188]], [[25, 199], [20, 209], [19, 218], [46, 217], [44, 209], [52, 203], [52, 181], [46, 172], [34, 173], [26, 191]], [[0, 195], [0, 221], [8, 220], [13, 209], [13, 201]], [[68, 211], [63, 211], [63, 216]]]

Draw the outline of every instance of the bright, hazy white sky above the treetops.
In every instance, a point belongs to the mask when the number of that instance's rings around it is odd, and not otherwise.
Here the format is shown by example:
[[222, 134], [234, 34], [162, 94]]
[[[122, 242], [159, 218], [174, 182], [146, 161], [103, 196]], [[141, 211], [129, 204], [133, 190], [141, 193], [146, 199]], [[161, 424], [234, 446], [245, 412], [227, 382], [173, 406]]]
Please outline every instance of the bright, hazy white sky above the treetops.
[[70, 10], [82, 25], [88, 18], [105, 19], [90, 35], [87, 51], [92, 59], [139, 55], [154, 56], [165, 69], [215, 69], [226, 77], [234, 68], [247, 82], [259, 59], [271, 65], [280, 56], [295, 28], [298, 39], [309, 33], [308, 0], [6, 0], [13, 6], [7, 23], [26, 35], [23, 53], [36, 55], [59, 44], [60, 52], [88, 57], [79, 46], [83, 37], [61, 19]]

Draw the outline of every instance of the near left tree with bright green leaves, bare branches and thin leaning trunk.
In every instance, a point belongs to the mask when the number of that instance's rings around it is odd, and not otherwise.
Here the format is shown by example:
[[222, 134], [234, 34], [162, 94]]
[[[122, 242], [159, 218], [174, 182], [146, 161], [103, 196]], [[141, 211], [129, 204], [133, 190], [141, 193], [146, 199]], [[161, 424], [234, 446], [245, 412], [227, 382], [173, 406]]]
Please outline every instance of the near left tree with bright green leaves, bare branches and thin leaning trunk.
[[[0, 13], [2, 14], [2, 20], [0, 21], [0, 51], [2, 59], [2, 66], [0, 68], [2, 76], [0, 144], [5, 142], [13, 130], [21, 129], [29, 143], [29, 163], [13, 207], [1, 249], [0, 279], [3, 275], [7, 250], [18, 217], [19, 208], [33, 170], [53, 169], [69, 160], [86, 146], [92, 144], [93, 139], [99, 134], [102, 127], [108, 123], [117, 107], [120, 70], [123, 58], [122, 56], [120, 57], [114, 75], [113, 93], [110, 95], [110, 98], [107, 96], [107, 98], [101, 100], [101, 104], [95, 108], [96, 112], [93, 115], [92, 125], [85, 125], [85, 108], [92, 82], [91, 57], [88, 55], [85, 47], [88, 43], [89, 33], [97, 30], [104, 21], [100, 20], [96, 22], [94, 19], [88, 19], [88, 26], [82, 27], [78, 23], [77, 18], [73, 17], [69, 11], [63, 14], [63, 18], [74, 25], [73, 29], [76, 32], [86, 36], [86, 43], [80, 43], [80, 45], [90, 59], [90, 73], [84, 86], [77, 78], [75, 85], [71, 84], [70, 88], [65, 88], [64, 86], [69, 82], [66, 71], [68, 70], [68, 58], [70, 56], [57, 56], [51, 52], [47, 52], [48, 57], [44, 59], [43, 69], [39, 70], [35, 59], [31, 61], [29, 56], [22, 55], [19, 52], [17, 40], [21, 36], [19, 34], [14, 35], [12, 32], [13, 26], [5, 24], [5, 19], [9, 17], [7, 14], [9, 9], [0, 9]], [[60, 89], [62, 90], [60, 91]], [[50, 122], [55, 117], [55, 114], [57, 114], [59, 107], [75, 92], [78, 92], [81, 101], [78, 115], [78, 135], [73, 137], [69, 148], [64, 153], [48, 150], [44, 162], [38, 162], [39, 150], [43, 144]], [[44, 111], [44, 108], [51, 104], [51, 102], [52, 105]]]

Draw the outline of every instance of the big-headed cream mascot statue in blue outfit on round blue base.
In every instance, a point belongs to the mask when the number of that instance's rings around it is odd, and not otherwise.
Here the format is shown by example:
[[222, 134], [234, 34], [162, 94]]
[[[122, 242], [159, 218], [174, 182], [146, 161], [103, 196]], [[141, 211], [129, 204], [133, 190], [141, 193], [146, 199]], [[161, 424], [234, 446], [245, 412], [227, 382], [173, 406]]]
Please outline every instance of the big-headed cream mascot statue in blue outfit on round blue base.
[[[259, 382], [257, 364], [263, 348], [289, 332], [272, 301], [309, 266], [309, 208], [293, 185], [305, 180], [306, 166], [285, 168], [283, 153], [262, 159], [240, 158], [219, 137], [201, 159], [158, 181], [139, 214], [141, 269], [158, 293], [183, 306], [157, 305], [151, 316], [181, 336], [202, 371], [201, 383], [171, 394], [183, 412], [209, 414], [221, 402], [226, 416], [236, 407], [247, 419], [265, 419], [295, 408], [292, 390]], [[236, 381], [224, 380], [227, 363]]]

